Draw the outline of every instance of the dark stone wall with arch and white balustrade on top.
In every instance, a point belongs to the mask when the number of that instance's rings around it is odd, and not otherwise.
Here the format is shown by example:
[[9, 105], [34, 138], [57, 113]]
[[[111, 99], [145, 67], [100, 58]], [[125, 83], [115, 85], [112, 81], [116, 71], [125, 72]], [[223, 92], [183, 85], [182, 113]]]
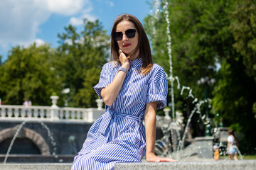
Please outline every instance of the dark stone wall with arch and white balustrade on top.
[[97, 108], [60, 108], [56, 105], [58, 96], [51, 99], [53, 106], [0, 106], [3, 164], [73, 162], [85, 140], [86, 135], [80, 134], [104, 111], [102, 101], [97, 100]]

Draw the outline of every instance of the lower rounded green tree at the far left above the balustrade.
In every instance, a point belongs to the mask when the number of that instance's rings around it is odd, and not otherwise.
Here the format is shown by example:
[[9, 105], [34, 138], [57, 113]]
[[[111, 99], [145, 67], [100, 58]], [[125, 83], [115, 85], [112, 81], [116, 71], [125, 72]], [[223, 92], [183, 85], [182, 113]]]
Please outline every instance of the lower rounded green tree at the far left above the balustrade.
[[51, 69], [53, 54], [49, 45], [12, 48], [0, 69], [0, 96], [5, 104], [20, 105], [28, 97], [33, 105], [50, 105], [59, 82]]

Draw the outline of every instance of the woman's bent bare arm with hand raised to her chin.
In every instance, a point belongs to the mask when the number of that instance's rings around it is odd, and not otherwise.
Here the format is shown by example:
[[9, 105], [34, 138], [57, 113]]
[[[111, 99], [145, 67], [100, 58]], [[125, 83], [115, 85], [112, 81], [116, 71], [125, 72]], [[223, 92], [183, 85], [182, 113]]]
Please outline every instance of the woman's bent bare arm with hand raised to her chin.
[[[122, 67], [129, 70], [129, 60], [127, 60], [127, 57], [122, 51], [120, 51], [119, 54], [119, 60], [122, 64]], [[117, 75], [114, 77], [113, 81], [106, 88], [102, 89], [101, 96], [107, 106], [112, 105], [114, 100], [117, 98], [117, 95], [122, 88], [122, 84], [124, 83], [126, 75], [127, 74], [125, 72], [118, 72]]]

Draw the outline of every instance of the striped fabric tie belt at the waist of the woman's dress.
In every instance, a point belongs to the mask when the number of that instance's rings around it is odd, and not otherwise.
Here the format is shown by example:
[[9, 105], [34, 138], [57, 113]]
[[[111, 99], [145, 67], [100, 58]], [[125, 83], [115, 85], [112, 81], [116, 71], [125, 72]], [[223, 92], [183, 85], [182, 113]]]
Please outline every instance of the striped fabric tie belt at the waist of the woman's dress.
[[99, 125], [99, 131], [102, 135], [105, 135], [107, 128], [110, 125], [110, 120], [114, 118], [114, 116], [119, 116], [122, 118], [130, 118], [132, 120], [137, 120], [139, 122], [139, 126], [142, 123], [142, 116], [136, 116], [136, 115], [128, 115], [125, 113], [116, 113], [114, 111], [111, 111], [109, 108], [107, 108], [107, 111], [103, 114], [103, 118]]

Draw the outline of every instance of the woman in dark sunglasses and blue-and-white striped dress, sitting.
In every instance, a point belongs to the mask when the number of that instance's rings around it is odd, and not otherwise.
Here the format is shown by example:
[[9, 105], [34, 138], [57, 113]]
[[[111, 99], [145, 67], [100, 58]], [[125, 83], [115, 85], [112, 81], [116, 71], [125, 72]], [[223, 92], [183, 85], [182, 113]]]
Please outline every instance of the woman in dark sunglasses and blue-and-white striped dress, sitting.
[[[117, 162], [176, 162], [156, 157], [156, 109], [166, 106], [164, 69], [153, 64], [149, 40], [139, 20], [118, 16], [111, 33], [112, 62], [94, 87], [105, 113], [90, 128], [73, 169], [114, 169]], [[145, 126], [142, 121], [145, 120]]]

